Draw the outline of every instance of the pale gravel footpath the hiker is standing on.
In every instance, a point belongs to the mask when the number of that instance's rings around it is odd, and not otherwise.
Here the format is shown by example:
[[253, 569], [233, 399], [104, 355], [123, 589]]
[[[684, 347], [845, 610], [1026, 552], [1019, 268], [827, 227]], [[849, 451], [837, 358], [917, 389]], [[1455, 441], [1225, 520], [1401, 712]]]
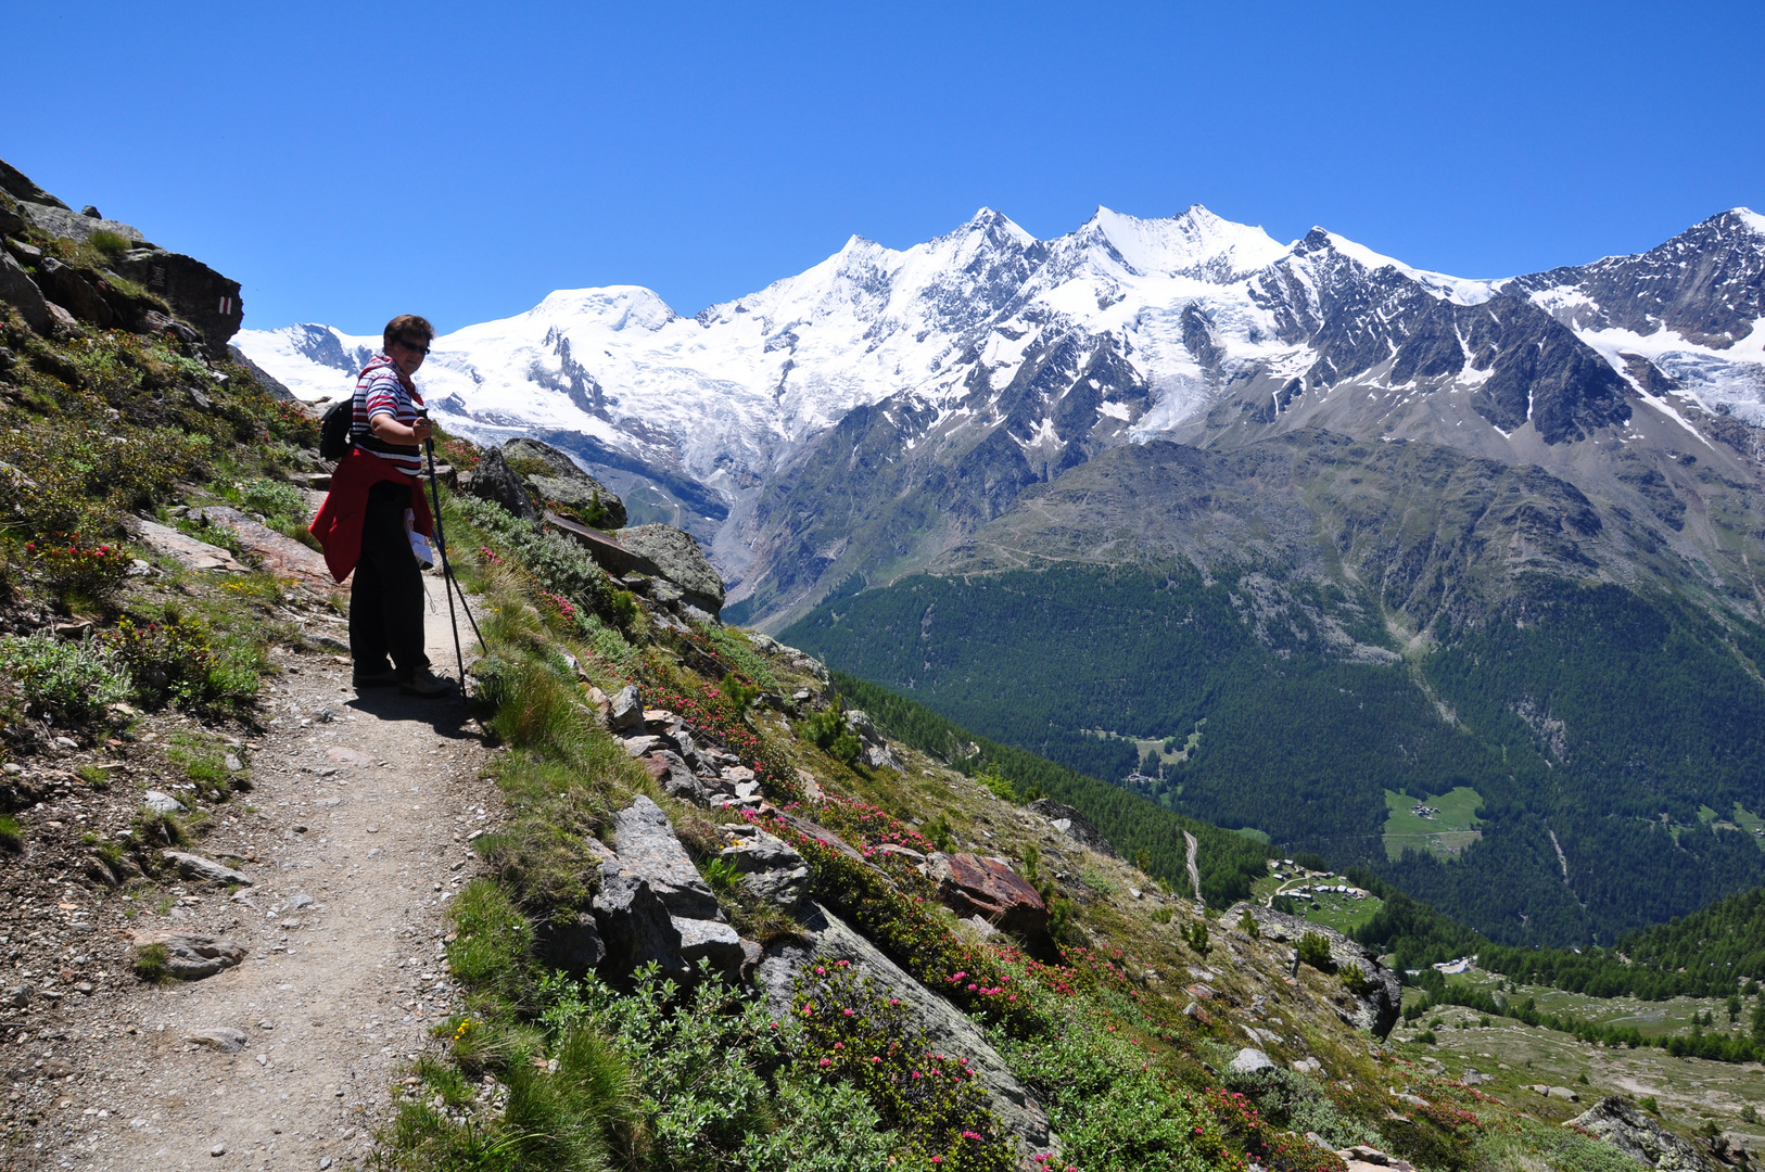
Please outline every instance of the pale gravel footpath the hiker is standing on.
[[[424, 581], [429, 655], [452, 674], [439, 579]], [[159, 988], [118, 973], [108, 997], [46, 1004], [21, 1034], [9, 1022], [5, 1059], [71, 1071], [46, 1078], [53, 1100], [9, 1167], [358, 1167], [402, 1068], [439, 1047], [429, 1031], [455, 1004], [447, 900], [477, 870], [469, 838], [501, 808], [478, 780], [487, 752], [457, 697], [357, 697], [341, 657], [281, 662], [265, 697], [274, 724], [249, 743], [254, 789], [219, 807], [194, 847], [245, 860], [231, 865], [252, 886], [173, 888], [182, 902], [164, 918], [97, 913], [101, 930], [152, 920], [226, 935], [245, 960]], [[244, 1048], [226, 1052], [226, 1031]], [[217, 1045], [191, 1041], [203, 1034]]]

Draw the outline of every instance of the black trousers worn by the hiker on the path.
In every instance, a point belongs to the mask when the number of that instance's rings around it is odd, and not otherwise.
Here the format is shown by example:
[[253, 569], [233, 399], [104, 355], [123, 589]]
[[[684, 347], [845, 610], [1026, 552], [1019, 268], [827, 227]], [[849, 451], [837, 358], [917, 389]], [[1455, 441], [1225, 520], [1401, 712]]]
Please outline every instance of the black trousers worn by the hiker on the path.
[[378, 676], [387, 657], [399, 680], [429, 667], [424, 655], [424, 575], [404, 535], [408, 487], [383, 480], [367, 491], [362, 558], [349, 588], [349, 658], [355, 674]]

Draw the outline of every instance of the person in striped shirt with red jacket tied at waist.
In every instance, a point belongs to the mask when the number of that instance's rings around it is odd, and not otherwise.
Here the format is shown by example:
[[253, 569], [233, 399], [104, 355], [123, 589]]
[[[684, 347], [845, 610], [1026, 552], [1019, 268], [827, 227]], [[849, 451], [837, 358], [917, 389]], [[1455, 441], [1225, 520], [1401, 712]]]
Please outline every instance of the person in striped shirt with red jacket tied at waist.
[[355, 570], [349, 658], [357, 690], [397, 685], [411, 695], [443, 695], [455, 687], [429, 671], [424, 655], [424, 579], [411, 549], [411, 533], [434, 537], [417, 478], [434, 427], [411, 381], [432, 339], [434, 327], [417, 314], [387, 323], [381, 351], [355, 381], [355, 447], [337, 462], [312, 519], [332, 577], [341, 582]]

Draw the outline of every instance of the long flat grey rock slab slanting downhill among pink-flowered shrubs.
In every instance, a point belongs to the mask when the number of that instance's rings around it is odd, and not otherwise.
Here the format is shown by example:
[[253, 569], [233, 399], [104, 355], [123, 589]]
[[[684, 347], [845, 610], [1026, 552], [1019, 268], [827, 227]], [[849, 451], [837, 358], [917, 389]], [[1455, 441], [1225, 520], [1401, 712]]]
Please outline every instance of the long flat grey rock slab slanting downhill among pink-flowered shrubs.
[[755, 983], [766, 992], [773, 1013], [789, 1013], [792, 988], [805, 965], [817, 960], [849, 960], [860, 976], [870, 978], [879, 997], [895, 997], [923, 1029], [939, 1054], [969, 1059], [969, 1070], [987, 1089], [999, 1121], [1034, 1151], [1047, 1151], [1048, 1117], [1024, 1089], [987, 1041], [980, 1027], [960, 1010], [913, 980], [870, 941], [819, 904], [808, 904], [798, 935], [766, 946]]

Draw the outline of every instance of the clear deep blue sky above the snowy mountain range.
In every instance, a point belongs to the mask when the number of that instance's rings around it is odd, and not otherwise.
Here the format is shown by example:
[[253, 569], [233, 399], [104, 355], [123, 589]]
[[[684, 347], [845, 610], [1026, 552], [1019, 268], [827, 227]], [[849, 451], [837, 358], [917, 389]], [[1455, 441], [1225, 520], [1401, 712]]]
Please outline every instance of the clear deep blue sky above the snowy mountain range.
[[245, 286], [443, 332], [695, 312], [983, 205], [1205, 203], [1490, 277], [1765, 210], [1765, 5], [19, 5], [7, 159]]

